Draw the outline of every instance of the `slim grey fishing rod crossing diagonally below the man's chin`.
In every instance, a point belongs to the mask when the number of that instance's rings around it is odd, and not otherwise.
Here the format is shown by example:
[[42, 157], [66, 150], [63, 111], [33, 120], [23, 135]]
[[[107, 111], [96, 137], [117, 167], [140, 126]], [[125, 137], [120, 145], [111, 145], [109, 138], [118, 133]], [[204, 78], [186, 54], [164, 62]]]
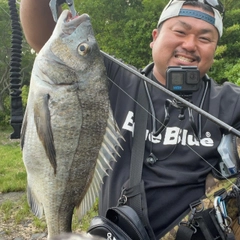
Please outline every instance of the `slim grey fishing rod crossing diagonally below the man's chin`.
[[102, 55], [105, 56], [106, 58], [110, 59], [111, 61], [117, 63], [119, 66], [125, 68], [127, 71], [133, 73], [134, 75], [136, 75], [137, 77], [139, 77], [140, 79], [148, 82], [149, 84], [155, 86], [156, 88], [162, 90], [163, 92], [167, 93], [169, 96], [175, 98], [176, 100], [178, 100], [179, 102], [181, 102], [182, 104], [184, 104], [185, 106], [193, 109], [194, 111], [196, 111], [197, 113], [201, 114], [202, 116], [205, 116], [206, 118], [208, 118], [209, 120], [211, 120], [212, 122], [216, 123], [217, 125], [219, 125], [220, 127], [226, 129], [229, 133], [234, 134], [237, 137], [240, 137], [240, 131], [238, 131], [237, 129], [233, 128], [232, 126], [226, 124], [225, 122], [219, 120], [218, 118], [214, 117], [213, 115], [209, 114], [208, 112], [202, 110], [201, 108], [197, 107], [196, 105], [190, 103], [189, 101], [185, 100], [184, 98], [178, 96], [177, 94], [171, 92], [170, 90], [168, 90], [167, 88], [161, 86], [160, 84], [154, 82], [153, 80], [151, 80], [150, 78], [146, 77], [145, 75], [142, 75], [140, 72], [138, 72], [137, 70], [127, 66], [126, 64], [124, 64], [123, 62], [119, 61], [118, 59], [110, 56], [109, 54], [105, 53], [104, 51], [101, 51]]

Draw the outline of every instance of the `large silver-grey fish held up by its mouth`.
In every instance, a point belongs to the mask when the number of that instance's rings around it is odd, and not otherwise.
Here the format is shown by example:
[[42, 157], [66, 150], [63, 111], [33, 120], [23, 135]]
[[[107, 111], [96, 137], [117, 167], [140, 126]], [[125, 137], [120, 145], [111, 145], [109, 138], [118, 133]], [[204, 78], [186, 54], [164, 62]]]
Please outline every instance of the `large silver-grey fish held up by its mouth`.
[[35, 59], [21, 137], [28, 202], [49, 239], [71, 231], [75, 207], [91, 208], [121, 137], [89, 16], [69, 18]]

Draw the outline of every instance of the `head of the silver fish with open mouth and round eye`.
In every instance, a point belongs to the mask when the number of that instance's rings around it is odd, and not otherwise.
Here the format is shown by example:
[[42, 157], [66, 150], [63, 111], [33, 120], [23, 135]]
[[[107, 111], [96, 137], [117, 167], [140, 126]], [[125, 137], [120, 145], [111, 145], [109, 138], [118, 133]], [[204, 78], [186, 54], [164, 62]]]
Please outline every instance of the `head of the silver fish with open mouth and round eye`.
[[89, 15], [72, 18], [68, 10], [61, 13], [38, 58], [42, 71], [50, 75], [54, 84], [72, 84], [79, 82], [79, 75], [84, 79], [84, 74], [89, 75], [91, 70], [94, 75], [105, 70]]

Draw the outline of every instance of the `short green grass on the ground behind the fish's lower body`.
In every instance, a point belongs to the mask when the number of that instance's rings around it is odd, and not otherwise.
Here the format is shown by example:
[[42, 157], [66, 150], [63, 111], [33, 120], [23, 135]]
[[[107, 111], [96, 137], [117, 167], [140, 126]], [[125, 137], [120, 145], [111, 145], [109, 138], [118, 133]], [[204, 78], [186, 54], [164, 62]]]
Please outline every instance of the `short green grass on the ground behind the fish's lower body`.
[[[31, 213], [25, 193], [27, 174], [22, 161], [20, 141], [11, 140], [10, 134], [12, 129], [0, 128], [0, 193], [23, 191], [22, 198], [18, 201], [6, 200], [0, 203], [0, 220], [8, 225], [9, 222], [21, 224], [25, 221], [32, 221], [35, 231], [44, 232], [47, 229], [45, 219], [38, 219]], [[89, 222], [93, 216], [97, 215], [97, 203], [91, 211], [81, 220], [78, 221], [74, 214], [72, 229], [73, 231], [86, 231]], [[12, 225], [4, 229], [6, 234], [11, 234]]]

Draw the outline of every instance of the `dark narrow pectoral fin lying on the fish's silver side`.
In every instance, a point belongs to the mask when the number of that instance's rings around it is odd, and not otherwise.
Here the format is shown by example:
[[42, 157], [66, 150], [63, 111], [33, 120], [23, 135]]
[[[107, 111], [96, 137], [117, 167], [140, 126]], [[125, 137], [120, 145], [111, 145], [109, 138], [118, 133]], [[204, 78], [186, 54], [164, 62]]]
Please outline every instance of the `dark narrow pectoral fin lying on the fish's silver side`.
[[49, 94], [46, 94], [34, 105], [34, 121], [39, 139], [41, 140], [50, 164], [54, 169], [54, 174], [56, 174], [56, 150], [51, 128], [51, 116], [48, 108], [49, 98]]

